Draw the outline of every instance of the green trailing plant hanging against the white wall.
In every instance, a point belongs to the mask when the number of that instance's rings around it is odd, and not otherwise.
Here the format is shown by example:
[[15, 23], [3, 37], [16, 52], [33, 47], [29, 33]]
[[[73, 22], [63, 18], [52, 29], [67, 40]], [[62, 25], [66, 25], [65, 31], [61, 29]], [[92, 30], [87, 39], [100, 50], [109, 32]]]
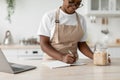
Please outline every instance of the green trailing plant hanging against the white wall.
[[6, 0], [7, 3], [7, 20], [11, 23], [11, 16], [15, 11], [15, 0]]

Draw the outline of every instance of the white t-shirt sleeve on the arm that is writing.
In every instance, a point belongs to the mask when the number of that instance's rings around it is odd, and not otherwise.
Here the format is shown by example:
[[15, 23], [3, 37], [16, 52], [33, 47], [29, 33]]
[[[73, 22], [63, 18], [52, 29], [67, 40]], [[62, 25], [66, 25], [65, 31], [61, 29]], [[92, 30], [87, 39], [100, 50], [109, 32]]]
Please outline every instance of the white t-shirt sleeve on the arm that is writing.
[[47, 14], [42, 17], [37, 34], [50, 37], [50, 19]]

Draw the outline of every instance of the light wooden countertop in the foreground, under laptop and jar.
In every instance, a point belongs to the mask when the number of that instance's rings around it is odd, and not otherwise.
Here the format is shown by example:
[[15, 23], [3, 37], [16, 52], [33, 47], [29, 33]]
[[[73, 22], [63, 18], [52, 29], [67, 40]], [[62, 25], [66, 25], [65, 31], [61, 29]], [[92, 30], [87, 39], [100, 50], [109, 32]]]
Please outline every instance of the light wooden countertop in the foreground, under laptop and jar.
[[92, 60], [81, 59], [87, 64], [56, 69], [43, 65], [42, 60], [15, 60], [12, 62], [34, 65], [37, 69], [20, 74], [0, 72], [0, 80], [120, 80], [120, 58], [111, 60], [109, 66], [95, 66]]

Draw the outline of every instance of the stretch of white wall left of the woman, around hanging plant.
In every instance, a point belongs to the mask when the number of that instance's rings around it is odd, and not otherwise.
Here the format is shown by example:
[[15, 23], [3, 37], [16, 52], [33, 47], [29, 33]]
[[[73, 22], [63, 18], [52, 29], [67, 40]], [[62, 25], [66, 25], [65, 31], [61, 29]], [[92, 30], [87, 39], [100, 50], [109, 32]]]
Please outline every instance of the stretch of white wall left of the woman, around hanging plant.
[[[61, 5], [61, 0], [16, 0], [16, 10], [12, 23], [6, 20], [5, 0], [0, 0], [0, 42], [3, 41], [6, 30], [10, 30], [14, 41], [37, 37], [37, 29], [43, 14]], [[2, 12], [2, 13], [1, 13]]]

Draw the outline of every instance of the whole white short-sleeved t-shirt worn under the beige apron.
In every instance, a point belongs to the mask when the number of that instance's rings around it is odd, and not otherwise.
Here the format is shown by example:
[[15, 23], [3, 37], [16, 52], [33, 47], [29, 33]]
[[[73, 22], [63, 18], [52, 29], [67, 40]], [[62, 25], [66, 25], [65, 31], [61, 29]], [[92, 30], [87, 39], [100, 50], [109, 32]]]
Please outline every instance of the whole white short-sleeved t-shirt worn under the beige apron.
[[[40, 22], [39, 29], [38, 29], [38, 33], [37, 33], [38, 35], [48, 36], [50, 37], [50, 39], [53, 37], [54, 30], [55, 30], [55, 15], [56, 15], [57, 10], [50, 11], [43, 16]], [[78, 15], [80, 18], [82, 29], [84, 31], [84, 35], [80, 40], [82, 42], [82, 41], [86, 41], [86, 38], [87, 38], [86, 22], [83, 16], [81, 16], [80, 14]], [[65, 24], [65, 25], [78, 24], [77, 19], [76, 19], [76, 13], [67, 14], [63, 12], [61, 9], [59, 13], [59, 21], [60, 21], [60, 24]]]

